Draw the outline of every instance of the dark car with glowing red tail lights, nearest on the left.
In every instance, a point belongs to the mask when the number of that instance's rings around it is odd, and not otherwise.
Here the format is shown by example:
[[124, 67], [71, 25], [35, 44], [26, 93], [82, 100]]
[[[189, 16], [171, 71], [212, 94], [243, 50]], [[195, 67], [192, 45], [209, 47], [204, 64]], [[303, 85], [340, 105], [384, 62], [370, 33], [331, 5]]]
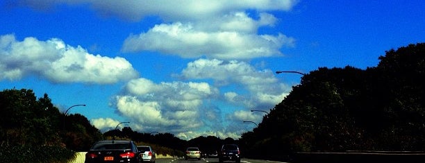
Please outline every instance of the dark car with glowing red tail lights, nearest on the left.
[[142, 159], [134, 141], [102, 140], [97, 141], [85, 154], [85, 163], [90, 162], [140, 163]]

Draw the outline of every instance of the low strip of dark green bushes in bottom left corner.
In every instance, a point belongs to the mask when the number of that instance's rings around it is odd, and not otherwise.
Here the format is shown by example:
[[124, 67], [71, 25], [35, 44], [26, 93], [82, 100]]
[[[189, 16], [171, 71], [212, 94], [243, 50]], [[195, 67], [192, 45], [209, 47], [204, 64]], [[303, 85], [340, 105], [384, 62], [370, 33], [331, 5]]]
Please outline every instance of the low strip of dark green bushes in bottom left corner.
[[76, 152], [60, 146], [0, 146], [1, 162], [69, 162]]

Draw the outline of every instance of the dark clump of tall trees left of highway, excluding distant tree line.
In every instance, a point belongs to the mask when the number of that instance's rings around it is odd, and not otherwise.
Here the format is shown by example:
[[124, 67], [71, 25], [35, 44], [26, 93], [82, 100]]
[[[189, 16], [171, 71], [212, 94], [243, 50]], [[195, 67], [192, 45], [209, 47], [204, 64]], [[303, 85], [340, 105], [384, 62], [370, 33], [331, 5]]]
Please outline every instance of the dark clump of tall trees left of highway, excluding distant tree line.
[[[37, 99], [31, 89], [0, 92], [0, 116], [1, 157], [15, 152], [15, 157], [22, 154], [19, 157], [29, 162], [40, 155], [40, 162], [56, 162], [58, 154], [87, 151], [102, 137], [81, 114], [60, 113], [47, 94]], [[74, 155], [61, 157], [72, 159]]]

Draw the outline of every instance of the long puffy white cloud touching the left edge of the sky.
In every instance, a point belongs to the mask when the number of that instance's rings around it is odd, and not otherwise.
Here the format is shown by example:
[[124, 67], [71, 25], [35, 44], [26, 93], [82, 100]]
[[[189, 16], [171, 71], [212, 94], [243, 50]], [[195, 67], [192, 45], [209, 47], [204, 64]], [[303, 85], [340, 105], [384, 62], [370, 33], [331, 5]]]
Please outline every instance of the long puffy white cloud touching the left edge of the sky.
[[0, 80], [38, 75], [52, 83], [111, 84], [138, 77], [124, 58], [90, 54], [57, 38], [40, 41], [26, 37], [18, 41], [15, 35], [1, 35], [0, 61]]

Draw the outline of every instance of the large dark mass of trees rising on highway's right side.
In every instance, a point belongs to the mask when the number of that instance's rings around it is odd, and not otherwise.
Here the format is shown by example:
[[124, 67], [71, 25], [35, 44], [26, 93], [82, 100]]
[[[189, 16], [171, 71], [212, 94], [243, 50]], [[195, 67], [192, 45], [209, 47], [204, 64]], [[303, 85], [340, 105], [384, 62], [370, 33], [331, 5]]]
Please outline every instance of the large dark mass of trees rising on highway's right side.
[[425, 44], [378, 59], [365, 70], [322, 67], [302, 76], [258, 128], [242, 135], [249, 155], [424, 151]]

